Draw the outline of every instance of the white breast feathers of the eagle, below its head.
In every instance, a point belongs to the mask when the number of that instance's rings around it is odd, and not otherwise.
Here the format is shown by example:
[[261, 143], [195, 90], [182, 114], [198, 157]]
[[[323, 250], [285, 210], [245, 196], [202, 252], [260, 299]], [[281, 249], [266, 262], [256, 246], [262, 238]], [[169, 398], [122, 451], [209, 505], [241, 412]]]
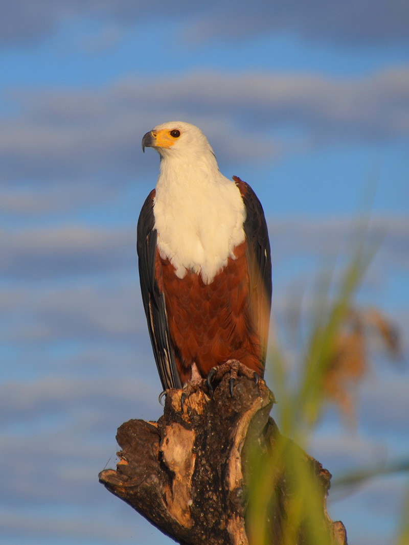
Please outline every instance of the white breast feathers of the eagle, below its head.
[[168, 168], [161, 161], [153, 208], [161, 257], [170, 259], [179, 278], [191, 270], [206, 284], [228, 257], [235, 258], [246, 216], [238, 187], [214, 165], [198, 168], [184, 161], [178, 168], [172, 161]]

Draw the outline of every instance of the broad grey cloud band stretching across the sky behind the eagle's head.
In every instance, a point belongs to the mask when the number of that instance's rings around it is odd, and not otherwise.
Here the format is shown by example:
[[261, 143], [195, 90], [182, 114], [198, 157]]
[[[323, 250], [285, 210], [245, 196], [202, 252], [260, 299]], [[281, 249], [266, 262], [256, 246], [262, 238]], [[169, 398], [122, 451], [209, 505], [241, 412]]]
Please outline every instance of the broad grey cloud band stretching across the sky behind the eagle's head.
[[[172, 118], [201, 126], [222, 161], [270, 161], [300, 146], [409, 136], [407, 66], [361, 78], [197, 72], [101, 89], [21, 89], [13, 96], [19, 113], [2, 120], [0, 136], [4, 180], [135, 178], [146, 169], [141, 135]], [[274, 136], [283, 125], [304, 136], [290, 147]]]

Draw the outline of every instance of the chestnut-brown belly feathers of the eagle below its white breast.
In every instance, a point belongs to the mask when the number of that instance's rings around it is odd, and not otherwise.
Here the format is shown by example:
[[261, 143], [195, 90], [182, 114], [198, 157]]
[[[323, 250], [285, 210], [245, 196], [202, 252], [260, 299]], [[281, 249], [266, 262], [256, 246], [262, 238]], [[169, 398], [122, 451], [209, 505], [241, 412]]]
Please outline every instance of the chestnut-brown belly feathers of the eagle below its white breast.
[[236, 259], [228, 258], [226, 267], [208, 285], [194, 272], [178, 278], [169, 259], [162, 259], [157, 250], [155, 277], [165, 295], [172, 348], [183, 384], [190, 379], [194, 362], [203, 378], [229, 359], [263, 376], [245, 250], [244, 241], [234, 249]]

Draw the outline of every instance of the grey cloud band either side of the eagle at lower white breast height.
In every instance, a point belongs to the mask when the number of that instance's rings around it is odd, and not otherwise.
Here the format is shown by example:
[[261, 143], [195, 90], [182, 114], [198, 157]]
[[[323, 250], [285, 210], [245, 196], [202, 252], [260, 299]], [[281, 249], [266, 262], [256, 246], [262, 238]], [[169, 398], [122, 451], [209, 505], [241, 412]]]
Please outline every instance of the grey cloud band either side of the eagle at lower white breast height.
[[[345, 243], [356, 238], [362, 220], [351, 217], [269, 219], [273, 261], [297, 254], [336, 256]], [[22, 228], [0, 239], [3, 274], [23, 280], [82, 273], [136, 270], [135, 224], [122, 228], [97, 228], [66, 223], [54, 228]], [[407, 265], [409, 219], [405, 216], [374, 216], [368, 224], [369, 240], [378, 242], [384, 261]]]

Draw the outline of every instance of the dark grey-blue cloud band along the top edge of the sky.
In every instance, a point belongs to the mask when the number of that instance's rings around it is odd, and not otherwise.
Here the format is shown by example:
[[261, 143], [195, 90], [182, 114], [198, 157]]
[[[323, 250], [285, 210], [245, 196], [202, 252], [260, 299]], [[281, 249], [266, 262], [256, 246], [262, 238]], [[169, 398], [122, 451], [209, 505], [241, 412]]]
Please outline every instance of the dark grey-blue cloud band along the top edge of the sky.
[[55, 32], [69, 17], [93, 17], [112, 26], [127, 27], [159, 17], [179, 17], [183, 14], [188, 39], [239, 40], [263, 31], [288, 31], [311, 41], [338, 41], [344, 44], [384, 43], [407, 40], [406, 2], [393, 0], [345, 0], [342, 4], [314, 0], [278, 1], [274, 4], [255, 0], [228, 0], [206, 4], [174, 0], [157, 0], [155, 5], [135, 0], [35, 0], [34, 2], [1, 2], [0, 36], [3, 44], [31, 43]]

